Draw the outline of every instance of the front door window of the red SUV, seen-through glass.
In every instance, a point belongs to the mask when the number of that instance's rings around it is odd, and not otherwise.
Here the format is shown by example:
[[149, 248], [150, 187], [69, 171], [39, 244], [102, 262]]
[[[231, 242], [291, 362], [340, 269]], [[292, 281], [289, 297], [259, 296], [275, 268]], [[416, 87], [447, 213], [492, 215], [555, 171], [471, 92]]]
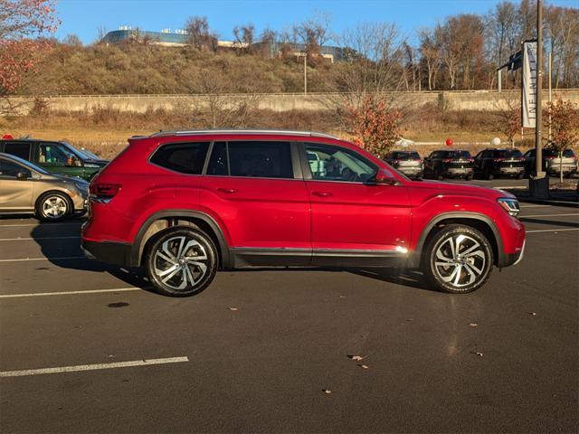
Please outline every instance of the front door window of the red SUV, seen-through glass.
[[306, 144], [309, 170], [319, 181], [363, 183], [375, 175], [377, 166], [345, 147]]

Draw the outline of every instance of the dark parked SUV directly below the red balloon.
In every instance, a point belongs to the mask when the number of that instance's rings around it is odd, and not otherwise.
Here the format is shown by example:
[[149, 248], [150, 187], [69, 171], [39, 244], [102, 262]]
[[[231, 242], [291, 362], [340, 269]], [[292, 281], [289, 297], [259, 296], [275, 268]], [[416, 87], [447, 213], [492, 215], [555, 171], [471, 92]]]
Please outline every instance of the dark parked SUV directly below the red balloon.
[[474, 176], [474, 158], [469, 151], [443, 149], [434, 151], [424, 158], [424, 176], [442, 180], [444, 178], [464, 178], [470, 181]]

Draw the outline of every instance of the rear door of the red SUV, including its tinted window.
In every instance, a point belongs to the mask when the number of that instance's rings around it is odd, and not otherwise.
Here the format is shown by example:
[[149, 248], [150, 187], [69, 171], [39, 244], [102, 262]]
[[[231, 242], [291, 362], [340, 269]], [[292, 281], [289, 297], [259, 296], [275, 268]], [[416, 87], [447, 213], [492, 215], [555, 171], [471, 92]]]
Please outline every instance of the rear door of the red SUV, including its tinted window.
[[295, 143], [215, 142], [201, 206], [222, 220], [237, 259], [252, 265], [271, 265], [276, 259], [309, 264], [309, 198]]

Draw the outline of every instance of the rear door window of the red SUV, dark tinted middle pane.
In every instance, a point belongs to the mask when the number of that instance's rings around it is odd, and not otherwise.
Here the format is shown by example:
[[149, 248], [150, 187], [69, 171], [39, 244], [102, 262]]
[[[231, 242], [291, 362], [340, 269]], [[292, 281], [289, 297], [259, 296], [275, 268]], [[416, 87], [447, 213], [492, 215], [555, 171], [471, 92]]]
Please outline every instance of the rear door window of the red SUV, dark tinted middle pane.
[[293, 178], [289, 142], [216, 142], [207, 175]]

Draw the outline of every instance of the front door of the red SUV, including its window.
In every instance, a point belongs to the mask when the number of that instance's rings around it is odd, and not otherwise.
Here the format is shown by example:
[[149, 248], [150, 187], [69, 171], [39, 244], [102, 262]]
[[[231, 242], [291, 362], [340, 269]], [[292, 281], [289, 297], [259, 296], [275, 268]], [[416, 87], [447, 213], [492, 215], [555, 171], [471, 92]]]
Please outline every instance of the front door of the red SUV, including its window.
[[[356, 265], [356, 259], [382, 260], [405, 251], [411, 231], [406, 187], [368, 182], [378, 166], [345, 146], [301, 146], [303, 159], [315, 154], [324, 166], [321, 172], [304, 166], [311, 203], [312, 263]], [[334, 257], [340, 257], [339, 263], [332, 263]]]

